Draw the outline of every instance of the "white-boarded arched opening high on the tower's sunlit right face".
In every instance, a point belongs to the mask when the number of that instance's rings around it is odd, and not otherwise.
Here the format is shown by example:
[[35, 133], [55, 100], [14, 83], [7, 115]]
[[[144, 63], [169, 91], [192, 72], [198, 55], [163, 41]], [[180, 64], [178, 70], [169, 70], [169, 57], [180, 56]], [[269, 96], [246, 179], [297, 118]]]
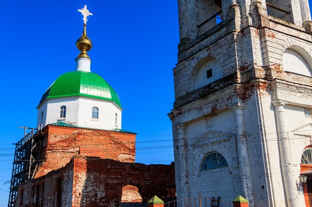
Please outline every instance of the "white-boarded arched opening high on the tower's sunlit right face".
[[283, 56], [284, 70], [312, 77], [312, 71], [307, 61], [292, 49], [286, 49]]

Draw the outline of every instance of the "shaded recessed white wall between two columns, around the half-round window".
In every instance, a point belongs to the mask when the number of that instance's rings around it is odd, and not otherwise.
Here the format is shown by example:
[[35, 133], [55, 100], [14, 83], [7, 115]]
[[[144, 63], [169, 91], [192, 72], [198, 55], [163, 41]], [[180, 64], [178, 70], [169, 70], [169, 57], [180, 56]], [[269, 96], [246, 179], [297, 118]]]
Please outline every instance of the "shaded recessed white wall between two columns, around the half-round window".
[[[238, 173], [238, 162], [233, 117], [233, 111], [227, 110], [213, 117], [201, 117], [187, 123], [190, 197], [199, 197], [198, 192], [201, 192], [202, 197], [220, 197], [222, 201], [232, 201], [235, 197], [237, 189], [233, 185], [239, 181], [235, 176]], [[203, 158], [213, 151], [222, 154], [229, 167], [200, 171]], [[224, 182], [219, 182], [220, 180]], [[218, 184], [215, 185], [215, 182]]]

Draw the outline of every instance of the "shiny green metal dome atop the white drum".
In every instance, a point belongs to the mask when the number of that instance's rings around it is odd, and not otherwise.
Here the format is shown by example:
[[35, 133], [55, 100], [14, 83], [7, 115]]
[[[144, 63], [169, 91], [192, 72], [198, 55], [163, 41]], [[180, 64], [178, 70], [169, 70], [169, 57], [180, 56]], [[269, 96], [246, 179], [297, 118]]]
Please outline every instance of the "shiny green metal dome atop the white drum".
[[85, 96], [115, 102], [121, 107], [115, 90], [100, 75], [87, 71], [66, 72], [45, 91], [39, 105], [48, 98]]

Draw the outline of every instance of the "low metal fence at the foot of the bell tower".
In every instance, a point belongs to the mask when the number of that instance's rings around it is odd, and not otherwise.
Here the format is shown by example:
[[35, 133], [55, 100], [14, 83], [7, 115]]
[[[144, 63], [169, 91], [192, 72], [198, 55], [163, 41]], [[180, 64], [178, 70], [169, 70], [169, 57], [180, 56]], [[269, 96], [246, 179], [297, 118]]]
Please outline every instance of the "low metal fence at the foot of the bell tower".
[[221, 201], [220, 198], [187, 198], [171, 201], [164, 207], [233, 207], [232, 202]]

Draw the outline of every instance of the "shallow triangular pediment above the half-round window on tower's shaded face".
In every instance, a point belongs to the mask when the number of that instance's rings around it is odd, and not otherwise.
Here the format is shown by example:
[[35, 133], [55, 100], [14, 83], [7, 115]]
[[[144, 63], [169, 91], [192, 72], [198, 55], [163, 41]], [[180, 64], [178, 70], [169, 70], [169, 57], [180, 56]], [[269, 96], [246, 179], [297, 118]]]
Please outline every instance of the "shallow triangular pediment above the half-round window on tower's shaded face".
[[216, 144], [216, 143], [220, 143], [220, 142], [229, 141], [234, 137], [235, 137], [235, 135], [209, 131], [204, 136], [197, 139], [197, 141], [195, 143], [193, 143], [192, 146], [193, 147], [200, 147], [200, 146], [204, 146], [207, 144]]

